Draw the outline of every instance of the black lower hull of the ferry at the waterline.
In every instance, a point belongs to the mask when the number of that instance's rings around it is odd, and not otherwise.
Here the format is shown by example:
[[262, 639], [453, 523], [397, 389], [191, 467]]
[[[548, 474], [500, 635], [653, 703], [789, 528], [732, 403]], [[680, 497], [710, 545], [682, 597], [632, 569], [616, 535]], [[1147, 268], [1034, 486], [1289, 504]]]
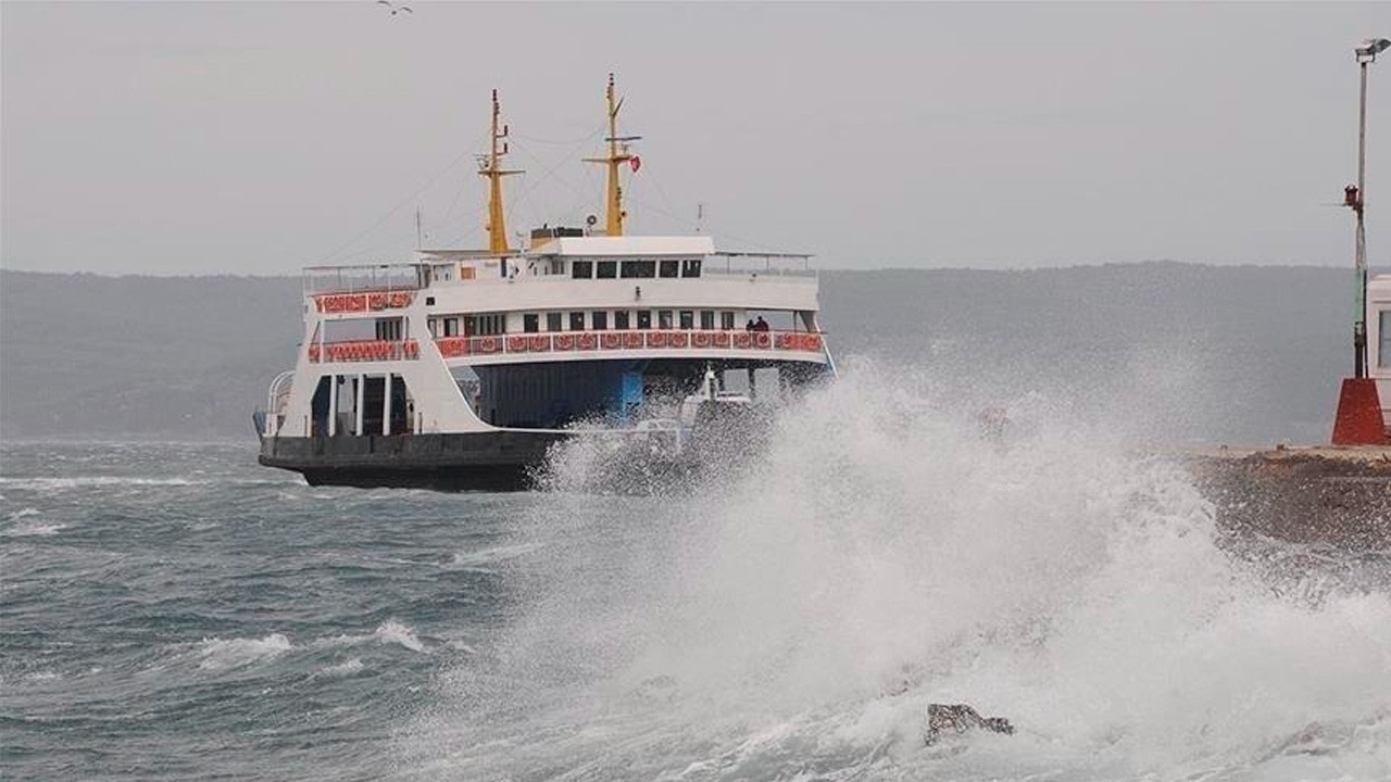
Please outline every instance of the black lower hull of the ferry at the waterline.
[[263, 437], [257, 461], [294, 470], [310, 486], [519, 491], [549, 447], [554, 431]]

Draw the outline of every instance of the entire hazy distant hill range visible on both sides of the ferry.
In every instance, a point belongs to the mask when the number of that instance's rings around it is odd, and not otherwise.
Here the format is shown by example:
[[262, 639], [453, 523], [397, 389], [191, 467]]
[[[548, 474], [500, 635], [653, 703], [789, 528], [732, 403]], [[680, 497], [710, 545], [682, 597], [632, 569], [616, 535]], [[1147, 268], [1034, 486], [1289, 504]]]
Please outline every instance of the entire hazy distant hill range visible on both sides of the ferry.
[[[1129, 405], [1168, 440], [1313, 441], [1351, 365], [1351, 288], [1313, 267], [828, 271], [822, 308], [843, 370]], [[250, 438], [299, 296], [291, 277], [0, 270], [0, 436]]]

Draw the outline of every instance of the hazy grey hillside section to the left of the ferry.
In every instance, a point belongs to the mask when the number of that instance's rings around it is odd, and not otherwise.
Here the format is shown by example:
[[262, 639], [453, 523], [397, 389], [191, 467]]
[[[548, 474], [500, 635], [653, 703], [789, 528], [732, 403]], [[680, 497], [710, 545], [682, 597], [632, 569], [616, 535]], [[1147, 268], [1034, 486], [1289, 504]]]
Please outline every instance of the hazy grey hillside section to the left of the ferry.
[[0, 434], [250, 436], [300, 338], [289, 277], [0, 271]]

